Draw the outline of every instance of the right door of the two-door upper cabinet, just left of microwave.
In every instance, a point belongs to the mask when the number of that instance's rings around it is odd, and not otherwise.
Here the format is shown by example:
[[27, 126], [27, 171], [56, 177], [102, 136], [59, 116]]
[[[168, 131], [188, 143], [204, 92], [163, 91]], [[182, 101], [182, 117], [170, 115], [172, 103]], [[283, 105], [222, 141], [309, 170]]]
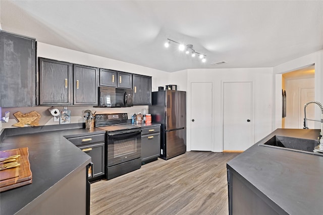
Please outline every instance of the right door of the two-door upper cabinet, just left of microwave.
[[73, 65], [75, 105], [98, 105], [98, 68]]

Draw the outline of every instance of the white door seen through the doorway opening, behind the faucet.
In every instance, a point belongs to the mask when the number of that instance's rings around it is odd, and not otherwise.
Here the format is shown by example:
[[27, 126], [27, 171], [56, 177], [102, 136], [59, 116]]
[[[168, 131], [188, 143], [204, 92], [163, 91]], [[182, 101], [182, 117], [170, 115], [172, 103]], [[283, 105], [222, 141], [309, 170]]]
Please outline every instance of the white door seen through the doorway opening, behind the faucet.
[[[303, 128], [304, 127], [304, 105], [307, 102], [310, 101], [315, 101], [315, 89], [314, 88], [303, 88], [300, 89], [301, 91], [301, 99], [300, 99], [300, 104], [299, 104], [299, 119], [298, 119], [298, 128]], [[315, 119], [315, 114], [314, 114], [314, 108], [315, 104], [309, 104], [306, 107], [306, 118], [307, 119]], [[314, 121], [307, 120], [307, 126], [311, 129], [314, 128]]]

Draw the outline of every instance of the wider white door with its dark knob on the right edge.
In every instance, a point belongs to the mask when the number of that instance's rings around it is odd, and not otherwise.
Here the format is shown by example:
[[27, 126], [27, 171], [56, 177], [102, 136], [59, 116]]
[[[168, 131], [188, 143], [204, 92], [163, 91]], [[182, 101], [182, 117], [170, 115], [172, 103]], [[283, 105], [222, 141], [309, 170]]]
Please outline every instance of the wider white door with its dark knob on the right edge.
[[223, 83], [223, 150], [244, 151], [252, 145], [252, 83]]

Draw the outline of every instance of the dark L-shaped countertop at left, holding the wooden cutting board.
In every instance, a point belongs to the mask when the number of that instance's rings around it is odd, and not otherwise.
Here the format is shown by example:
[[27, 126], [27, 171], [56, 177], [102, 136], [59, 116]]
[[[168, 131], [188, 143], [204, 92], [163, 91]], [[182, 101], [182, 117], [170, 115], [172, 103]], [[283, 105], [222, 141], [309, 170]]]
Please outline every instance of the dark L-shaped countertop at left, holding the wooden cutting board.
[[[36, 198], [41, 198], [46, 191], [70, 173], [84, 168], [91, 161], [91, 157], [79, 150], [64, 136], [104, 133], [99, 128], [48, 131], [44, 127], [46, 126], [35, 128], [35, 131], [38, 130], [37, 133], [30, 132], [32, 130], [30, 127], [14, 128], [12, 130], [15, 134], [18, 129], [27, 131], [27, 133], [14, 135], [9, 130], [6, 132], [9, 136], [2, 137], [0, 151], [28, 147], [32, 184], [1, 192], [0, 214], [18, 212]], [[40, 132], [41, 130], [46, 132]]]

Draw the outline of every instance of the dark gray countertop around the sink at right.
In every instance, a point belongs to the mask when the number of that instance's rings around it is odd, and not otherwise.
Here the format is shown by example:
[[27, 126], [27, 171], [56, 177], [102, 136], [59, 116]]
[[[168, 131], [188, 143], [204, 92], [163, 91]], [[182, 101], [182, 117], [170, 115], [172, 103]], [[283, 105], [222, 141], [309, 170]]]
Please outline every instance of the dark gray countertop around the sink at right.
[[273, 135], [317, 139], [318, 129], [277, 129], [227, 167], [288, 214], [323, 213], [323, 157], [258, 146]]

